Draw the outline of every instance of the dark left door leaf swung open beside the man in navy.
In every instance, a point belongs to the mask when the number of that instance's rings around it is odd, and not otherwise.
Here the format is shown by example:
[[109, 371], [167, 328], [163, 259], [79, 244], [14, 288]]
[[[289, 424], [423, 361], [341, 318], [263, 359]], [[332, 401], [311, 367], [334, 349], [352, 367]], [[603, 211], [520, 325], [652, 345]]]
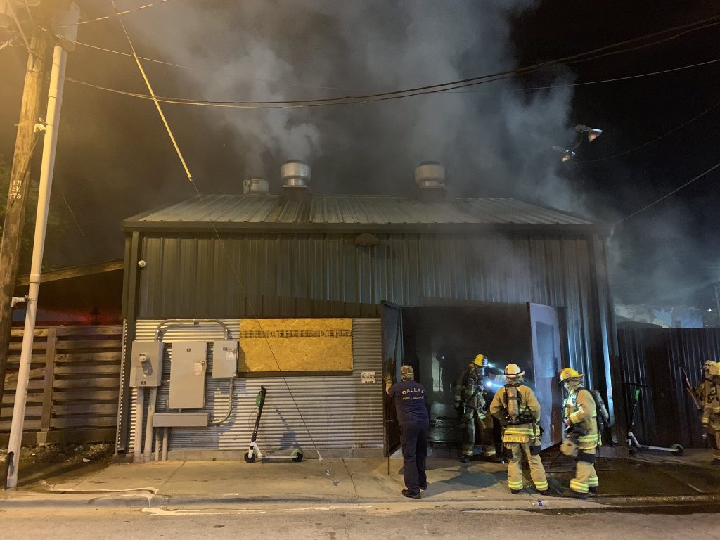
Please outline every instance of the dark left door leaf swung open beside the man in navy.
[[[390, 381], [400, 380], [402, 366], [402, 307], [382, 302], [382, 374]], [[383, 377], [383, 378], [384, 378]], [[389, 456], [400, 448], [400, 426], [395, 415], [395, 404], [387, 399], [383, 387], [385, 420], [385, 455]]]

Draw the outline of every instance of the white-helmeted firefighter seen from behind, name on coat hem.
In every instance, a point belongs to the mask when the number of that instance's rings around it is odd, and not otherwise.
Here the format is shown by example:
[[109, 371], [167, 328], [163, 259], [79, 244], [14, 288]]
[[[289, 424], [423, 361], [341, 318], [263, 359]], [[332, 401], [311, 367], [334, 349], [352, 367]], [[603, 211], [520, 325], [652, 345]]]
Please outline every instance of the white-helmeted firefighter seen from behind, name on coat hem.
[[522, 384], [523, 375], [517, 364], [505, 367], [507, 383], [495, 393], [490, 413], [503, 425], [503, 444], [508, 454], [508, 487], [514, 495], [523, 489], [524, 453], [530, 464], [530, 476], [536, 489], [547, 494], [545, 468], [540, 459], [540, 403], [528, 386]]

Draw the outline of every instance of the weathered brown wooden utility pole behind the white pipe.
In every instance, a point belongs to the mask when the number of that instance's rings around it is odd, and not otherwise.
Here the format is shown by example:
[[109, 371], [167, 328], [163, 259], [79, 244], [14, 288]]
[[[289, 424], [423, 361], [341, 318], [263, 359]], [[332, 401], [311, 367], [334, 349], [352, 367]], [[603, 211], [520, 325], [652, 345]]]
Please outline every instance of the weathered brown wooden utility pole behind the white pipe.
[[27, 207], [30, 184], [30, 161], [42, 132], [36, 132], [45, 100], [45, 79], [50, 41], [48, 32], [35, 32], [30, 39], [27, 71], [22, 94], [20, 121], [17, 126], [15, 151], [10, 171], [10, 189], [7, 198], [5, 223], [0, 241], [0, 399], [5, 387], [10, 328], [12, 326], [12, 295], [17, 281], [22, 228]]

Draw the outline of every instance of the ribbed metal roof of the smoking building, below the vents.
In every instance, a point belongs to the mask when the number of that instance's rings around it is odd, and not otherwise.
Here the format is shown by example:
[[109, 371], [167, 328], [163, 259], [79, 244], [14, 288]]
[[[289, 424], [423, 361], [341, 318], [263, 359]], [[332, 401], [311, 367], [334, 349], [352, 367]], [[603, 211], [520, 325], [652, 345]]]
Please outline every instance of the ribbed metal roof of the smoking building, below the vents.
[[202, 225], [595, 225], [583, 217], [518, 199], [420, 202], [380, 195], [202, 195], [125, 220], [126, 229], [151, 224]]

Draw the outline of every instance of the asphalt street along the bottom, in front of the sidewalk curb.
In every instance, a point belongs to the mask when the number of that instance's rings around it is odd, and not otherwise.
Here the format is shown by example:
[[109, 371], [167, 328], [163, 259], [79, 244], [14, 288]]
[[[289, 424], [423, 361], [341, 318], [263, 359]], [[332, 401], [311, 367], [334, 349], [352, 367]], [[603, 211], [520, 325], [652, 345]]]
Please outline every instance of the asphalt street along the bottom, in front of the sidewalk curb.
[[6, 540], [53, 539], [720, 539], [720, 507], [585, 512], [468, 505], [253, 505], [225, 508], [5, 509]]

